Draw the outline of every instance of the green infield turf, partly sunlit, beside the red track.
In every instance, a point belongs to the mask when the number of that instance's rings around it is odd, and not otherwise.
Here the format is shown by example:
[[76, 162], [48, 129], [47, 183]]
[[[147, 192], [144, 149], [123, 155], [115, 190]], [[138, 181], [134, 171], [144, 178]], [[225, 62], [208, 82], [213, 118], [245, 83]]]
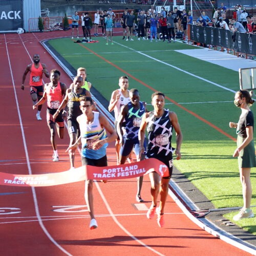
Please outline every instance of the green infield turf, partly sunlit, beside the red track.
[[[232, 92], [239, 90], [238, 72], [175, 51], [195, 49], [193, 46], [121, 38], [114, 37], [114, 45], [108, 46], [102, 37], [93, 44], [74, 44], [70, 38], [49, 44], [74, 69], [85, 67], [88, 80], [107, 100], [118, 89], [122, 75], [130, 77], [129, 88], [139, 90], [148, 110], [152, 110], [151, 94], [165, 93], [166, 108], [176, 112], [183, 133], [182, 159], [175, 166], [216, 208], [243, 206], [238, 163], [232, 158], [236, 131], [228, 126], [241, 113], [233, 104]], [[175, 144], [175, 138], [173, 141]], [[251, 182], [255, 187], [255, 169]], [[255, 193], [251, 205], [256, 205]], [[256, 208], [252, 210], [256, 215]], [[231, 220], [235, 214], [226, 217]], [[238, 222], [254, 234], [255, 223], [256, 218]]]

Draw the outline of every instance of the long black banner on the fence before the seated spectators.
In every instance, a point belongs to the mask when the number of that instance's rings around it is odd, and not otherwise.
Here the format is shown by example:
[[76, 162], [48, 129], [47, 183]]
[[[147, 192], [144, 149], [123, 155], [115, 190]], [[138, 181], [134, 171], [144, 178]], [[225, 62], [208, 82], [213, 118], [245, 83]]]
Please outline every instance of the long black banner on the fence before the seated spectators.
[[239, 33], [235, 35], [229, 30], [190, 26], [190, 40], [200, 42], [206, 45], [220, 46], [230, 50], [256, 55], [256, 35]]

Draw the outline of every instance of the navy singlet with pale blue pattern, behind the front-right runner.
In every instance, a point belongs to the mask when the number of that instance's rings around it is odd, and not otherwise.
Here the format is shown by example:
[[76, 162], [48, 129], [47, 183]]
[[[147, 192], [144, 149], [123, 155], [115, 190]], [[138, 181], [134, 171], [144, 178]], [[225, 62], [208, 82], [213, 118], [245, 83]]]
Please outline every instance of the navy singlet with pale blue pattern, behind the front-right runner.
[[142, 116], [145, 113], [143, 103], [141, 101], [139, 103], [139, 109], [134, 109], [132, 102], [128, 103], [128, 113], [125, 116], [126, 123], [123, 132], [123, 137], [125, 139], [138, 138], [140, 123], [142, 120]]

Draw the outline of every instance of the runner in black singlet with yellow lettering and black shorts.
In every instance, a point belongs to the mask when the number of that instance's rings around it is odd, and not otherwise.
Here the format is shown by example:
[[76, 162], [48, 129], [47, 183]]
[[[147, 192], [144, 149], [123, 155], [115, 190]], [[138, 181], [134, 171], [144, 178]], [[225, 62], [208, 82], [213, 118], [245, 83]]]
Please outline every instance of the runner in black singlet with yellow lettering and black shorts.
[[[74, 88], [68, 89], [66, 96], [61, 102], [56, 113], [53, 115], [53, 119], [56, 119], [59, 112], [65, 108], [68, 104], [68, 130], [70, 137], [70, 145], [73, 145], [76, 141], [76, 138], [80, 136], [79, 124], [76, 120], [78, 116], [82, 114], [80, 110], [80, 97], [89, 96], [91, 94], [88, 90], [81, 88], [83, 84], [83, 79], [81, 76], [76, 76], [73, 80]], [[69, 154], [71, 169], [74, 168], [75, 154]]]

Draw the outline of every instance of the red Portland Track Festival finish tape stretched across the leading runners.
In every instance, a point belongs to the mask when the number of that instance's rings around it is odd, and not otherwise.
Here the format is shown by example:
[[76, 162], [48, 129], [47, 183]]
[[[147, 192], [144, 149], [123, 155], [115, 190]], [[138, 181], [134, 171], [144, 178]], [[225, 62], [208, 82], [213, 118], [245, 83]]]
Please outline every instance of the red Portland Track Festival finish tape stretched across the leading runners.
[[44, 187], [78, 182], [82, 180], [120, 180], [136, 178], [152, 172], [168, 177], [167, 166], [155, 158], [122, 165], [96, 167], [84, 165], [66, 172], [19, 175], [0, 173], [0, 185], [20, 187]]

